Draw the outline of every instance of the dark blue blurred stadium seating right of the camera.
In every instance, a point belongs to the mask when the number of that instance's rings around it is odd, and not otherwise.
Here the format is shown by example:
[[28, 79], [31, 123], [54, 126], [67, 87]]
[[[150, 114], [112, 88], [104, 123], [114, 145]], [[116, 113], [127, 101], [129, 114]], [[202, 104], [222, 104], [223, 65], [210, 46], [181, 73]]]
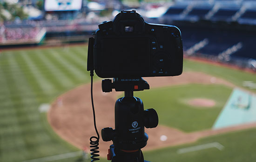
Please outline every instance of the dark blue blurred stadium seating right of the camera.
[[[182, 31], [187, 56], [207, 57], [249, 67], [256, 60], [256, 2], [183, 0], [170, 6], [160, 23]], [[252, 67], [252, 66], [251, 66]]]

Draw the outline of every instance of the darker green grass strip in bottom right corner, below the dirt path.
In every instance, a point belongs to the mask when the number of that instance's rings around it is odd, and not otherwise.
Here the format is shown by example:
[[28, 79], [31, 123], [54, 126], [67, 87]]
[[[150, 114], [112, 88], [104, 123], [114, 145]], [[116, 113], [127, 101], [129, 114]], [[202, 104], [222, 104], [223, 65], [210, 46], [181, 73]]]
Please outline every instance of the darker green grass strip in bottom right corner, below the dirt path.
[[[144, 157], [150, 162], [255, 162], [255, 134], [256, 129], [249, 129], [206, 137], [195, 143], [147, 151]], [[222, 144], [224, 149], [210, 148], [183, 154], [177, 153], [182, 148], [213, 142]]]

